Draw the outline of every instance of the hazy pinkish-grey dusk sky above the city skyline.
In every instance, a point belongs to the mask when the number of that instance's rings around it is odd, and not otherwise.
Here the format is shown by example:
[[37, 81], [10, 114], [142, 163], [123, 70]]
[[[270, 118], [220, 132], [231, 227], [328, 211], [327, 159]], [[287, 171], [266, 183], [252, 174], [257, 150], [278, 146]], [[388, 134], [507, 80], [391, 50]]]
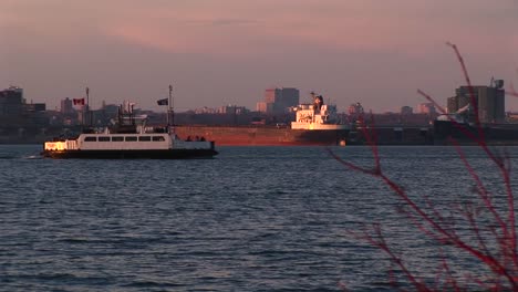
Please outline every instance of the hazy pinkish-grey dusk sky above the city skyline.
[[[518, 0], [0, 0], [0, 88], [59, 106], [256, 108], [269, 87], [339, 111], [445, 105], [466, 81], [518, 87]], [[518, 98], [507, 96], [507, 111]]]

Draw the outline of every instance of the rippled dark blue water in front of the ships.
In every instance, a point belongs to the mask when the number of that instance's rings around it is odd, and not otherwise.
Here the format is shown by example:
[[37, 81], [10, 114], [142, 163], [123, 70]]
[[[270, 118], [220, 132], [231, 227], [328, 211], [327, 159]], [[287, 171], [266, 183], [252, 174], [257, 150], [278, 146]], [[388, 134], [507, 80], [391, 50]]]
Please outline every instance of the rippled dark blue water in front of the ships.
[[[416, 272], [435, 275], [436, 250], [396, 211], [401, 201], [322, 147], [219, 147], [204, 160], [53, 160], [39, 150], [0, 146], [0, 290], [388, 291], [386, 255], [351, 236], [369, 222]], [[498, 189], [484, 154], [465, 150]], [[518, 148], [508, 150], [515, 159]], [[372, 166], [366, 147], [334, 152]], [[391, 178], [439, 210], [473, 196], [450, 147], [381, 155]]]

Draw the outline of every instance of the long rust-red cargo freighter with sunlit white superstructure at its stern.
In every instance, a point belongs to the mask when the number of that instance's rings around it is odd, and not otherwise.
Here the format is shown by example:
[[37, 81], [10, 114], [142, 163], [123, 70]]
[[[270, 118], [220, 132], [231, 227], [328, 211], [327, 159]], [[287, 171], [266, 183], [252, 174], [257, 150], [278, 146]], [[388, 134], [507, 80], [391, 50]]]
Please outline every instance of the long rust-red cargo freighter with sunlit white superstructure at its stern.
[[312, 104], [300, 104], [291, 125], [207, 126], [177, 125], [182, 138], [204, 138], [220, 146], [331, 146], [344, 145], [350, 125], [339, 119], [336, 106], [324, 104], [322, 95], [312, 93]]

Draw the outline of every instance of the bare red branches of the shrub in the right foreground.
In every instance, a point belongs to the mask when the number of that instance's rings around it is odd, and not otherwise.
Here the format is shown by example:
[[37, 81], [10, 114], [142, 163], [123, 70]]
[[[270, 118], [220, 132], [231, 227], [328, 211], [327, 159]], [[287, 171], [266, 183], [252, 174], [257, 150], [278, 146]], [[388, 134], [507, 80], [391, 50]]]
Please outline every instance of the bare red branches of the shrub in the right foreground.
[[[382, 171], [381, 159], [380, 159], [380, 154], [379, 154], [377, 144], [376, 144], [377, 138], [376, 138], [376, 133], [373, 126], [374, 119], [372, 117], [372, 114], [371, 114], [371, 121], [372, 121], [371, 126], [365, 124], [363, 116], [360, 116], [359, 128], [362, 131], [365, 142], [370, 146], [371, 152], [373, 154], [373, 160], [374, 160], [373, 168], [370, 169], [365, 167], [360, 167], [355, 164], [352, 164], [350, 161], [342, 159], [329, 148], [328, 148], [328, 152], [334, 159], [336, 159], [339, 163], [346, 166], [348, 168], [370, 175], [372, 177], [375, 177], [380, 179], [384, 185], [386, 185], [392, 190], [392, 192], [395, 194], [396, 197], [404, 202], [404, 206], [407, 208], [407, 209], [401, 208], [401, 211], [403, 213], [406, 213], [407, 218], [411, 220], [411, 222], [413, 222], [413, 226], [419, 229], [423, 233], [427, 234], [429, 238], [434, 239], [439, 244], [453, 244], [459, 250], [464, 250], [468, 252], [469, 254], [478, 259], [480, 263], [488, 267], [490, 271], [493, 271], [494, 273], [493, 284], [491, 286], [487, 286], [488, 284], [487, 281], [480, 281], [478, 282], [480, 288], [484, 288], [484, 289], [489, 288], [489, 290], [494, 290], [494, 291], [500, 290], [504, 288], [500, 281], [500, 279], [503, 278], [508, 282], [508, 284], [510, 285], [509, 288], [511, 288], [515, 291], [518, 291], [518, 283], [517, 283], [518, 277], [515, 277], [518, 272], [517, 236], [516, 236], [516, 221], [515, 221], [516, 219], [515, 219], [515, 210], [514, 210], [515, 199], [514, 199], [514, 192], [512, 192], [511, 184], [510, 184], [509, 157], [496, 155], [488, 147], [484, 131], [479, 122], [478, 103], [475, 97], [474, 87], [472, 85], [469, 75], [467, 73], [464, 59], [460, 55], [455, 44], [452, 44], [452, 43], [447, 43], [447, 44], [455, 51], [457, 60], [463, 70], [465, 81], [469, 88], [469, 95], [472, 98], [470, 103], [474, 106], [474, 112], [475, 112], [475, 117], [476, 117], [477, 135], [474, 135], [472, 132], [469, 132], [466, 125], [459, 124], [453, 118], [450, 118], [450, 122], [466, 137], [477, 143], [477, 145], [484, 150], [486, 156], [497, 166], [499, 174], [504, 180], [503, 182], [504, 182], [506, 196], [507, 196], [507, 218], [506, 219], [504, 219], [504, 217], [498, 212], [498, 210], [494, 206], [491, 201], [493, 195], [488, 191], [480, 176], [469, 164], [459, 144], [454, 139], [450, 139], [450, 143], [455, 146], [455, 149], [457, 150], [458, 157], [463, 161], [472, 179], [475, 181], [476, 190], [477, 190], [476, 192], [478, 194], [479, 199], [484, 202], [485, 209], [489, 211], [489, 213], [494, 217], [494, 219], [500, 227], [500, 231], [498, 231], [497, 228], [493, 228], [493, 227], [489, 229], [491, 231], [491, 234], [496, 237], [496, 240], [499, 247], [499, 252], [497, 253], [498, 255], [491, 254], [491, 252], [488, 249], [488, 246], [486, 244], [484, 238], [481, 237], [481, 229], [476, 222], [475, 210], [473, 208], [469, 209], [469, 206], [466, 206], [466, 209], [464, 209], [464, 211], [462, 211], [460, 215], [463, 215], [464, 218], [466, 218], [467, 222], [469, 223], [470, 230], [475, 233], [477, 238], [476, 243], [478, 243], [477, 244], [478, 247], [463, 240], [455, 231], [455, 228], [454, 228], [455, 222], [450, 220], [449, 221], [446, 220], [446, 218], [444, 218], [434, 208], [433, 204], [426, 200], [426, 198], [425, 198], [426, 204], [425, 204], [425, 209], [424, 209], [423, 207], [419, 207], [406, 194], [406, 191], [402, 188], [401, 185], [393, 181]], [[434, 98], [432, 98], [429, 95], [427, 95], [421, 90], [418, 91], [418, 93], [423, 95], [426, 100], [432, 102], [437, 108], [439, 108], [441, 112], [443, 112], [443, 114], [446, 114], [446, 111], [443, 107], [441, 107], [434, 101]], [[518, 96], [512, 85], [511, 85], [511, 95]], [[412, 272], [410, 272], [408, 269], [403, 264], [402, 259], [400, 259], [397, 255], [395, 255], [392, 252], [386, 241], [383, 239], [381, 234], [381, 228], [379, 226], [374, 228], [374, 233], [377, 237], [377, 240], [375, 240], [373, 237], [367, 236], [367, 234], [365, 234], [363, 238], [371, 244], [376, 246], [377, 248], [383, 250], [386, 254], [388, 254], [392, 261], [403, 271], [403, 273], [407, 277], [410, 282], [413, 283], [417, 290], [419, 291], [433, 290], [433, 289], [427, 288], [426, 284], [424, 284], [422, 281], [418, 281], [417, 278], [414, 274], [412, 274]], [[453, 273], [449, 270], [449, 267], [447, 265], [446, 259], [444, 259], [443, 269], [447, 274], [446, 282], [444, 283], [445, 288], [447, 288], [448, 290], [452, 289], [454, 291], [463, 290], [459, 288], [458, 282], [453, 278]], [[477, 281], [474, 281], [474, 282], [477, 282]], [[436, 281], [436, 284], [438, 282]], [[437, 288], [437, 285], [435, 288]]]

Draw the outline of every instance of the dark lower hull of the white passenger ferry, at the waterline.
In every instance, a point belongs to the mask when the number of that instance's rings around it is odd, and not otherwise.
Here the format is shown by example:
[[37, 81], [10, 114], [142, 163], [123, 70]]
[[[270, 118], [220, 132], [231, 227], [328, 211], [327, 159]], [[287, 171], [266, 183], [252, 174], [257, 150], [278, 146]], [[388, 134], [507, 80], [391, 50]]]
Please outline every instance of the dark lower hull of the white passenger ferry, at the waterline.
[[69, 159], [196, 159], [213, 158], [214, 149], [166, 149], [166, 150], [43, 150], [48, 158]]

